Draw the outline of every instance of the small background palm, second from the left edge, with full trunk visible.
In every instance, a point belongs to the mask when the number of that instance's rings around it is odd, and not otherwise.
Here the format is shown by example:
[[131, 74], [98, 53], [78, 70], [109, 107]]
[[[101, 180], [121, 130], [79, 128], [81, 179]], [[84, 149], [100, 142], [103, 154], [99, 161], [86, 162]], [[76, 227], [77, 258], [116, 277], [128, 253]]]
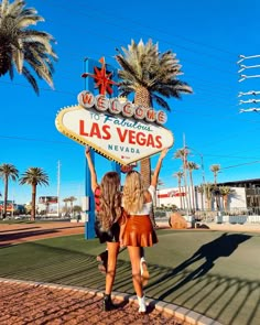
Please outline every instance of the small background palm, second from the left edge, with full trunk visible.
[[31, 185], [32, 186], [32, 210], [31, 210], [31, 220], [35, 220], [35, 210], [36, 210], [36, 188], [37, 185], [48, 185], [47, 174], [40, 167], [30, 167], [28, 169], [20, 178], [20, 184]]

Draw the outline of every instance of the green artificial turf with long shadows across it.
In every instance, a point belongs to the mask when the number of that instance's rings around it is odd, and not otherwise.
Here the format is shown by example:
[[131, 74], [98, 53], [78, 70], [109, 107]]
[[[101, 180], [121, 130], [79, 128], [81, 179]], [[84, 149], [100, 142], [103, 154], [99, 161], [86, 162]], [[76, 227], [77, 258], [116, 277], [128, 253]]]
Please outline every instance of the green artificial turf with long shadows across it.
[[[159, 230], [145, 249], [149, 297], [171, 302], [221, 324], [258, 325], [260, 235], [205, 230]], [[105, 249], [84, 235], [0, 249], [0, 277], [104, 290], [96, 256]], [[115, 291], [134, 293], [128, 252], [119, 254]]]

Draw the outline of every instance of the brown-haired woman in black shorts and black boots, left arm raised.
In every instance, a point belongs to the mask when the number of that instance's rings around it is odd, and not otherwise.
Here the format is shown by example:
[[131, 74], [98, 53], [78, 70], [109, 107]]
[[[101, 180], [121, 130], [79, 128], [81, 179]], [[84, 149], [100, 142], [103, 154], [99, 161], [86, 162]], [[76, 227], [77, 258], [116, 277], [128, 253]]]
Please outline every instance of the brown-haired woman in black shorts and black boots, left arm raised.
[[96, 221], [95, 231], [100, 243], [107, 242], [108, 260], [106, 270], [106, 289], [104, 294], [104, 311], [113, 310], [111, 291], [116, 277], [117, 257], [119, 252], [120, 219], [122, 216], [120, 176], [116, 172], [106, 173], [100, 184], [91, 160], [90, 150], [86, 147], [86, 159], [91, 178], [91, 191], [95, 196]]

